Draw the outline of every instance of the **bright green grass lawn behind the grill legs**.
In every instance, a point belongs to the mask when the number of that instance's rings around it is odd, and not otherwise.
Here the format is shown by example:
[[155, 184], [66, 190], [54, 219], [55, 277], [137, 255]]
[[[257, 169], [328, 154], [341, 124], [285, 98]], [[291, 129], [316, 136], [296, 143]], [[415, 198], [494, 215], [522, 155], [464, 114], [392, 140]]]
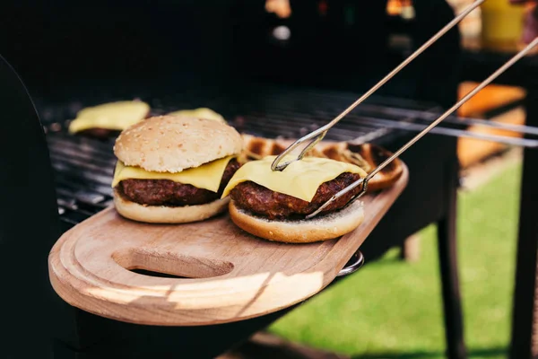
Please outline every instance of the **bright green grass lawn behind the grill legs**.
[[[470, 358], [505, 358], [516, 256], [521, 168], [460, 193], [458, 253]], [[290, 340], [353, 358], [445, 358], [435, 226], [416, 263], [397, 250], [318, 294], [273, 324]], [[368, 260], [368, 258], [367, 258]]]

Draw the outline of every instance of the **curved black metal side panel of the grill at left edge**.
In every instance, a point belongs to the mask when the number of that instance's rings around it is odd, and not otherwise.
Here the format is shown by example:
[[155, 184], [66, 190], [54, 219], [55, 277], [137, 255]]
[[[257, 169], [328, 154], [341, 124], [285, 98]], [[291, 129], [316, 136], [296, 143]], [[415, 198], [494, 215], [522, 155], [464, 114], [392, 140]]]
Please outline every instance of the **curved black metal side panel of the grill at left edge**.
[[60, 235], [53, 171], [28, 92], [2, 57], [0, 83], [4, 119], [13, 119], [0, 125], [0, 267], [5, 285], [0, 303], [4, 330], [9, 331], [2, 340], [2, 356], [47, 357], [51, 338], [46, 333], [60, 335], [64, 330], [70, 337], [74, 329], [74, 310], [48, 283], [48, 251]]

